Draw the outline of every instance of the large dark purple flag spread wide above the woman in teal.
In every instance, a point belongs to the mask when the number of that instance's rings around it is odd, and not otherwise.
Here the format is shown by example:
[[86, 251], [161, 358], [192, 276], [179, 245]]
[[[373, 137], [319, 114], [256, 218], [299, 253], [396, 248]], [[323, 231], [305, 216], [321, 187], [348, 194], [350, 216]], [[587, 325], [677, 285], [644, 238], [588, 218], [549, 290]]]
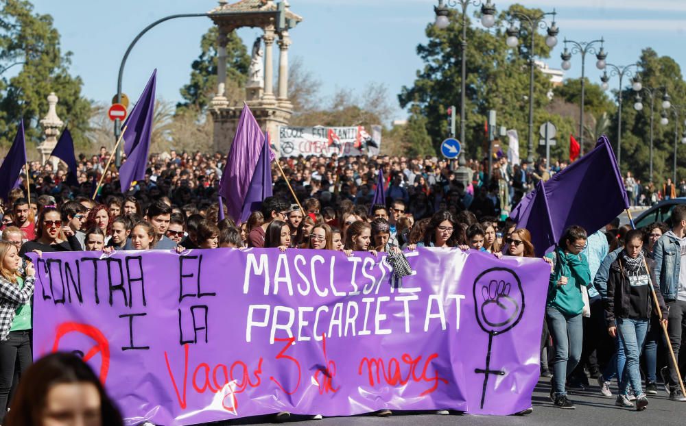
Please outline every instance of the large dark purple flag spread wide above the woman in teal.
[[592, 151], [522, 199], [510, 217], [517, 227], [531, 232], [536, 255], [542, 255], [554, 247], [565, 228], [579, 225], [592, 234], [628, 207], [615, 153], [603, 135]]

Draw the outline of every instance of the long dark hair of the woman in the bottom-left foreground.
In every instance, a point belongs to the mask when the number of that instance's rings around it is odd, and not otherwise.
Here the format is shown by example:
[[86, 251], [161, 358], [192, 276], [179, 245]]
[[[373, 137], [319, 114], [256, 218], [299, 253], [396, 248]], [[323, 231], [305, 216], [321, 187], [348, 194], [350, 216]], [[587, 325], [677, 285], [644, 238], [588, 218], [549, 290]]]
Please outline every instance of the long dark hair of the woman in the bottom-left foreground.
[[99, 379], [81, 358], [71, 353], [51, 353], [30, 366], [19, 381], [5, 426], [43, 425], [47, 394], [58, 384], [92, 384], [100, 395], [103, 426], [122, 426], [121, 414]]

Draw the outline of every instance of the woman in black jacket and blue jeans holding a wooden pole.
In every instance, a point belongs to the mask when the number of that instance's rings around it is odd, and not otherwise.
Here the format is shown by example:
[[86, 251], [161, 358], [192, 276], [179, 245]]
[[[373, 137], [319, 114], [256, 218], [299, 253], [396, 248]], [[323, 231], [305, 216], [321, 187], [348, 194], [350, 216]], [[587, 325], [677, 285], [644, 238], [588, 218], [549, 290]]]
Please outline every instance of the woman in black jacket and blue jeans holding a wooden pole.
[[[628, 231], [624, 238], [624, 250], [610, 266], [607, 280], [607, 298], [605, 299], [605, 319], [608, 333], [617, 342], [617, 354], [624, 353], [626, 364], [620, 371], [618, 364], [620, 407], [633, 407], [628, 399], [630, 385], [636, 397], [636, 410], [646, 409], [648, 399], [641, 388], [641, 371], [639, 356], [648, 333], [648, 323], [654, 301], [662, 310], [662, 323], [667, 323], [667, 306], [660, 289], [655, 286], [653, 275], [654, 260], [646, 259], [643, 253], [643, 232], [638, 229]], [[655, 292], [649, 286], [654, 286]]]

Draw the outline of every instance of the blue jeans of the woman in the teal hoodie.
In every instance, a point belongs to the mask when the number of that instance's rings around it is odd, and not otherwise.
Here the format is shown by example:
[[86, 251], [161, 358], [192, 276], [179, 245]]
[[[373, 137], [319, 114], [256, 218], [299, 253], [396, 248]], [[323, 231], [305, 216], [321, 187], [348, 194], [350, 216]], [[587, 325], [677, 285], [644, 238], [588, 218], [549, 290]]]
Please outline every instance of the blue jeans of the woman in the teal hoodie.
[[[545, 308], [548, 330], [553, 338], [555, 359], [552, 363], [553, 390], [556, 396], [566, 395], [565, 381], [576, 368], [584, 344], [581, 314], [568, 316], [552, 306]], [[548, 362], [550, 366], [550, 362]]]

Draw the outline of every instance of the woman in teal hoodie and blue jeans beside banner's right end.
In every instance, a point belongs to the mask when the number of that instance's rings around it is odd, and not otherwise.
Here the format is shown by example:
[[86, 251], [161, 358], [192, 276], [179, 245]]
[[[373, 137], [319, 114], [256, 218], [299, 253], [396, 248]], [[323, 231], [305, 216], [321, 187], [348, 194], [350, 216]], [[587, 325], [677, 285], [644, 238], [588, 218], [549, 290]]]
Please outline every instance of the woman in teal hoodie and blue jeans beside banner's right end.
[[581, 253], [587, 238], [582, 227], [568, 227], [558, 247], [547, 255], [553, 262], [553, 271], [550, 273], [545, 315], [555, 351], [550, 399], [556, 407], [572, 410], [575, 407], [567, 398], [565, 382], [581, 358], [584, 334], [581, 287], [592, 284], [589, 261]]

